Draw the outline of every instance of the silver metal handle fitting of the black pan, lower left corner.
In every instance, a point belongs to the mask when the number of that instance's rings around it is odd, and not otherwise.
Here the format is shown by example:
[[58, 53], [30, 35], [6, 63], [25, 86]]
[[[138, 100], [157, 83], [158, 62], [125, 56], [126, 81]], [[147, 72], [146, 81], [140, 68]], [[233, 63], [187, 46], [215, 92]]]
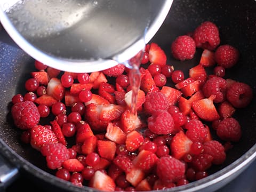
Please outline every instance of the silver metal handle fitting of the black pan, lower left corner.
[[11, 165], [0, 155], [0, 191], [5, 191], [19, 174], [18, 168]]

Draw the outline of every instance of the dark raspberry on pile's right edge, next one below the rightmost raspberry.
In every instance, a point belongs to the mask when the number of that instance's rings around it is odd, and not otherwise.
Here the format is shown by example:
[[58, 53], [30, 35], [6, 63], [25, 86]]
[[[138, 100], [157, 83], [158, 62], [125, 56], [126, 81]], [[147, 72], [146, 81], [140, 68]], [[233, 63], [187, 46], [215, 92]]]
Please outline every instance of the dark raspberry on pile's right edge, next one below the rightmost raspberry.
[[237, 142], [241, 138], [241, 126], [233, 117], [226, 118], [217, 127], [217, 135], [225, 141]]

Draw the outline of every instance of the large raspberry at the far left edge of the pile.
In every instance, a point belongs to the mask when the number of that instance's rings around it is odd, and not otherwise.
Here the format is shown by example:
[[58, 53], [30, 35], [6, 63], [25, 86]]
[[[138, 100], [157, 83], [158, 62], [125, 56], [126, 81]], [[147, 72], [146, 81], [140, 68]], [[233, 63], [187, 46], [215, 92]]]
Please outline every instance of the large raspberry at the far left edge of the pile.
[[39, 111], [32, 101], [15, 103], [11, 113], [15, 126], [22, 130], [31, 129], [40, 119]]

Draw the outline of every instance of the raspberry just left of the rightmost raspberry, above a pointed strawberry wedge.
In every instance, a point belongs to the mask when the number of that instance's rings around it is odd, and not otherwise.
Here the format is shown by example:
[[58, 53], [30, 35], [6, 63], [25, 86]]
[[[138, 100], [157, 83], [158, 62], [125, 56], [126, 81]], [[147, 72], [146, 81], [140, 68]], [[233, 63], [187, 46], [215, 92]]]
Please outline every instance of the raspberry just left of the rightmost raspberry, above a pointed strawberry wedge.
[[216, 96], [213, 102], [223, 102], [226, 99], [227, 82], [221, 77], [210, 78], [206, 81], [202, 90], [207, 98], [212, 94]]

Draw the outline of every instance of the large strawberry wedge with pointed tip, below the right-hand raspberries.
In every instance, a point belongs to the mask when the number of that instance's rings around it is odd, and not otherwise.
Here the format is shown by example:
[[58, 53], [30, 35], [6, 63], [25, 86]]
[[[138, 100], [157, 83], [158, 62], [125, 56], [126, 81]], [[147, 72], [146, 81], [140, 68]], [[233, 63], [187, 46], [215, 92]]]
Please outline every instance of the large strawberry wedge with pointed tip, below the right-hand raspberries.
[[214, 121], [220, 118], [213, 104], [214, 98], [215, 95], [211, 95], [209, 98], [194, 101], [192, 104], [192, 109], [196, 115], [204, 121]]

